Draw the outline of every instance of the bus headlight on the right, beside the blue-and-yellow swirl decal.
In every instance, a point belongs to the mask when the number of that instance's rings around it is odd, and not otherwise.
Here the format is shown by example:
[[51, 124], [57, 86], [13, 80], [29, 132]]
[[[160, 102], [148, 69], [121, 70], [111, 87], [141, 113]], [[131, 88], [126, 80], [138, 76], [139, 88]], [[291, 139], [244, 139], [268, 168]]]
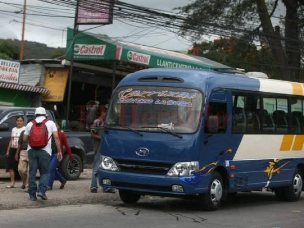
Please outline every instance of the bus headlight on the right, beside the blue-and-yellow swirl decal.
[[168, 171], [167, 176], [192, 176], [199, 169], [199, 162], [178, 162]]

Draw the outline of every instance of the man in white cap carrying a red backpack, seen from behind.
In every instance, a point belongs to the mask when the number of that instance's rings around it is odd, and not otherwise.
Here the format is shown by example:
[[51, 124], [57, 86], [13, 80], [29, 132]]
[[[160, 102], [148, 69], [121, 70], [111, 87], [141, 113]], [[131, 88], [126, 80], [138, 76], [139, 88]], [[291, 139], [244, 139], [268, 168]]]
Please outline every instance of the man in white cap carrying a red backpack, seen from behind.
[[[43, 107], [36, 108], [36, 119], [26, 125], [23, 141], [28, 141], [29, 179], [28, 193], [31, 200], [47, 200], [46, 190], [49, 182], [49, 165], [52, 154], [51, 137], [53, 136], [57, 147], [57, 158], [62, 160], [62, 151], [56, 125], [46, 118], [46, 110]], [[36, 174], [40, 173], [39, 186], [37, 189]]]

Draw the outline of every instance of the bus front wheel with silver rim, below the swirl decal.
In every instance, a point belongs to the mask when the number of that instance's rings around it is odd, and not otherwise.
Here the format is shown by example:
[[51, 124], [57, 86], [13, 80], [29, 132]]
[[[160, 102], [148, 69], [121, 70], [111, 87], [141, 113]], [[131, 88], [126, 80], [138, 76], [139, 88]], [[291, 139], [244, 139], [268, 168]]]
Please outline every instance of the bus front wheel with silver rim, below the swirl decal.
[[210, 180], [207, 193], [199, 195], [200, 204], [205, 211], [215, 211], [219, 208], [223, 199], [223, 180], [218, 171], [215, 171]]

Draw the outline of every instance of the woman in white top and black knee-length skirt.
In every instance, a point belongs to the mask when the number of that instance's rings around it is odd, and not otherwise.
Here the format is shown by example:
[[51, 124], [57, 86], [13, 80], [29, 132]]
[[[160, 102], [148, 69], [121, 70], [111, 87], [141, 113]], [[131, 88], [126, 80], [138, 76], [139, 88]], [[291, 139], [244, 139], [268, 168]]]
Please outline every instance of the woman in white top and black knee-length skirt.
[[6, 171], [10, 173], [11, 184], [7, 188], [15, 187], [15, 170], [18, 168], [18, 161], [15, 160], [15, 154], [18, 147], [20, 133], [25, 130], [23, 116], [16, 118], [16, 127], [12, 129], [11, 139], [5, 156], [7, 159]]

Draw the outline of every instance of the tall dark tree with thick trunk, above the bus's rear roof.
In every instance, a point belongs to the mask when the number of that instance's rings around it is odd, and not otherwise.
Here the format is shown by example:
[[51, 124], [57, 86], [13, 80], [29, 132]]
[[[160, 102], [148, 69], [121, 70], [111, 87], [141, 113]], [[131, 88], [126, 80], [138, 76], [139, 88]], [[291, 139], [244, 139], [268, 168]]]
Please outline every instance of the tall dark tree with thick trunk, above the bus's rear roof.
[[187, 15], [181, 34], [193, 40], [211, 34], [259, 41], [262, 47], [269, 47], [283, 80], [300, 81], [304, 0], [280, 3], [286, 14], [275, 24], [272, 19], [279, 0], [195, 0], [178, 8]]

